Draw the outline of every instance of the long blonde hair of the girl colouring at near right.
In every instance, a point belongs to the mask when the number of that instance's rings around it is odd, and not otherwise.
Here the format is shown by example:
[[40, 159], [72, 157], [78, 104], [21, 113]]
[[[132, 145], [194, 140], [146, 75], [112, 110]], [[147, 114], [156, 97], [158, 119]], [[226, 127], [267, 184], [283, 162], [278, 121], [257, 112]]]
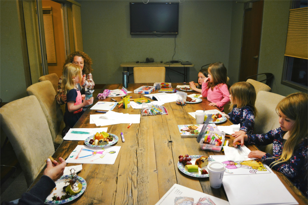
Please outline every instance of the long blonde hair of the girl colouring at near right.
[[290, 130], [290, 137], [283, 145], [282, 154], [278, 159], [270, 164], [274, 166], [289, 161], [294, 149], [302, 140], [308, 137], [308, 95], [305, 93], [293, 93], [283, 98], [276, 107], [276, 112], [280, 110], [288, 118], [295, 120], [294, 127]]

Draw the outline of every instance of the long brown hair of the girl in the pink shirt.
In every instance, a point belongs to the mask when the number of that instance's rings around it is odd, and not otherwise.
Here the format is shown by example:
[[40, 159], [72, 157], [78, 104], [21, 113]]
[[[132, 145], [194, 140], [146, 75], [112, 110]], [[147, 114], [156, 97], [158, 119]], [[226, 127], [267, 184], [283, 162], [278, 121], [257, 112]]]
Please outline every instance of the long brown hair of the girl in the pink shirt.
[[221, 83], [227, 85], [227, 69], [223, 63], [217, 62], [210, 64], [208, 71], [213, 76], [213, 82], [208, 83], [208, 89], [211, 88], [213, 90], [215, 86]]

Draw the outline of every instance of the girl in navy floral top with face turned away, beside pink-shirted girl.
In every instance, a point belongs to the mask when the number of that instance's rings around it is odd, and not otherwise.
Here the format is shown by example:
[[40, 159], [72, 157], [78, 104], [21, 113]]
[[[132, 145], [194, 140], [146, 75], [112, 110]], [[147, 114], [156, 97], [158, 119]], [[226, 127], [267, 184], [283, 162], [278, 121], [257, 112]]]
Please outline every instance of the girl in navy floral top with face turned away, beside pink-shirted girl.
[[257, 95], [253, 85], [249, 82], [237, 82], [230, 87], [230, 113], [228, 118], [233, 124], [240, 124], [240, 131], [232, 134], [237, 137], [253, 134], [254, 117], [257, 109], [254, 106]]

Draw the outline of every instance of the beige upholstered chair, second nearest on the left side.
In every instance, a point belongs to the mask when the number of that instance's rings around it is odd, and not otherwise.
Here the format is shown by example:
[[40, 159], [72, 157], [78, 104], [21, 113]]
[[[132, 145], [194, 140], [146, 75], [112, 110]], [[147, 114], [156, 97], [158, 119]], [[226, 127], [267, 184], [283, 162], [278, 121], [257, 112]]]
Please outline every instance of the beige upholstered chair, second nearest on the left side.
[[61, 133], [60, 126], [63, 122], [63, 112], [55, 99], [56, 92], [51, 82], [42, 81], [29, 86], [27, 88], [27, 95], [35, 95], [35, 97], [39, 100], [47, 119], [52, 141], [55, 144], [61, 144], [63, 141], [62, 135], [57, 135], [58, 133]]

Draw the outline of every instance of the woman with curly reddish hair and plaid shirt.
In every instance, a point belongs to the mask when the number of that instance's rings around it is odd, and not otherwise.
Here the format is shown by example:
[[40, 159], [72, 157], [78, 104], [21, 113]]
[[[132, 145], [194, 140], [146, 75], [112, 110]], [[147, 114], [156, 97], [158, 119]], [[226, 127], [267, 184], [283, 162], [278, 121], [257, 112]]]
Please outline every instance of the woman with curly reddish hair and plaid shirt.
[[[84, 90], [93, 90], [94, 89], [94, 81], [92, 77], [92, 59], [84, 52], [82, 51], [75, 51], [71, 53], [69, 56], [67, 56], [67, 59], [65, 61], [64, 66], [67, 63], [74, 63], [76, 65], [79, 65], [81, 70], [82, 70], [82, 80], [80, 83], [78, 83], [78, 89], [80, 90], [81, 94], [84, 94]], [[63, 66], [63, 67], [64, 67]], [[66, 95], [62, 93], [62, 76], [59, 78], [59, 83], [58, 83], [58, 92], [55, 96], [57, 102], [62, 105], [66, 103]]]

